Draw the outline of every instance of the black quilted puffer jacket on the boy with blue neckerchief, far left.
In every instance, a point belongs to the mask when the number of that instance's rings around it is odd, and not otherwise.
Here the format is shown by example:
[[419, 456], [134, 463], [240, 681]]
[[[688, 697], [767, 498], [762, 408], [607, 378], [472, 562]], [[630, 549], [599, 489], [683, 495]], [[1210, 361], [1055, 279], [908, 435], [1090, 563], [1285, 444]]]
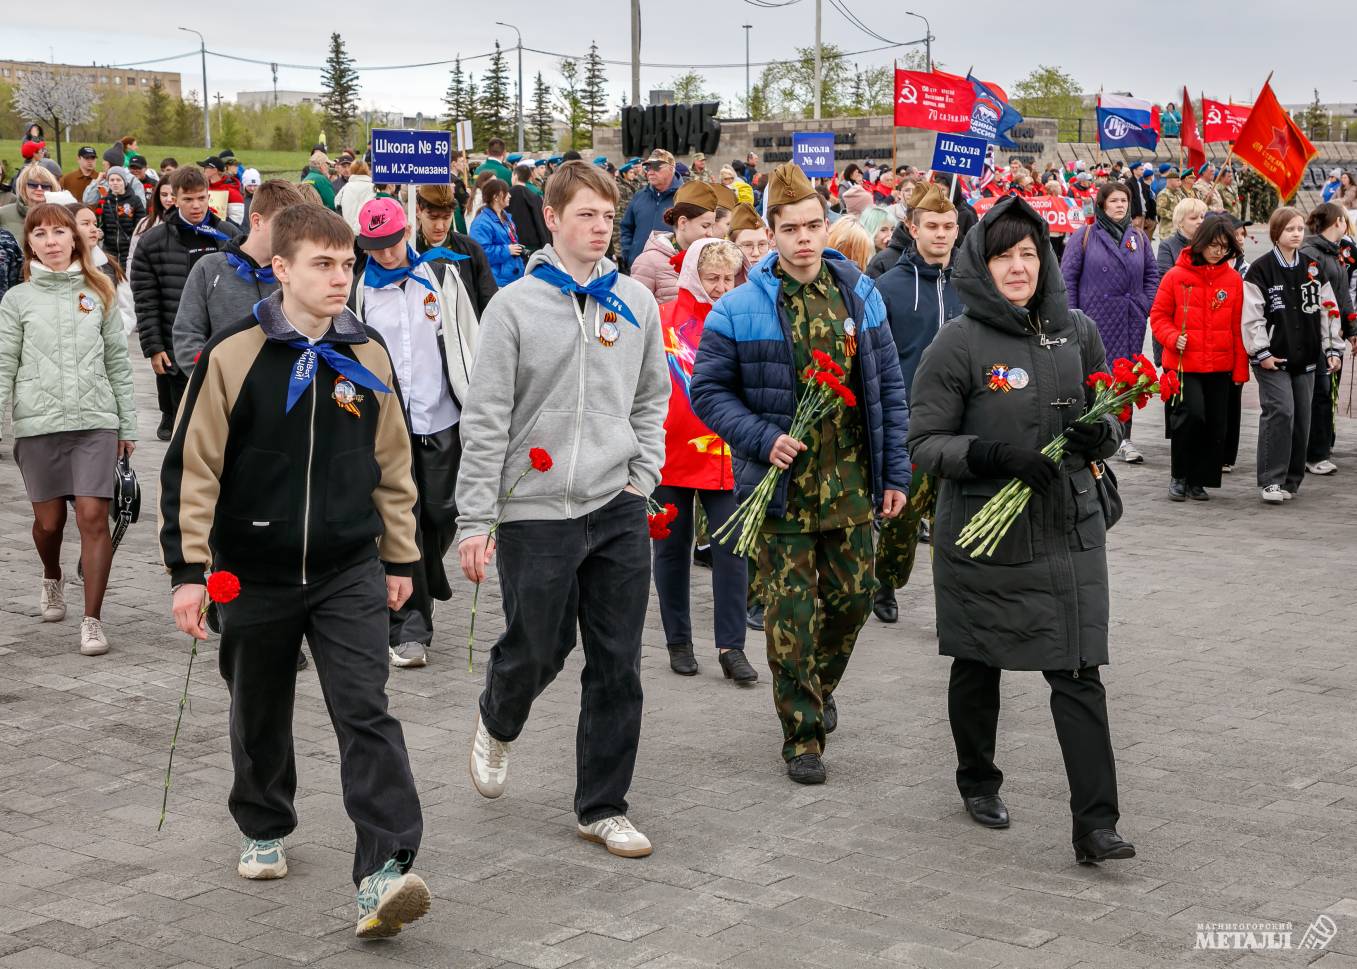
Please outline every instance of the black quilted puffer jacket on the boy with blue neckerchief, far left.
[[133, 255], [132, 299], [137, 307], [137, 337], [141, 353], [153, 357], [168, 353], [174, 360], [174, 318], [179, 312], [179, 297], [189, 271], [198, 259], [225, 247], [228, 239], [240, 235], [233, 224], [208, 213], [209, 227], [225, 236], [189, 228], [175, 209], [166, 221], [147, 229], [137, 242]]

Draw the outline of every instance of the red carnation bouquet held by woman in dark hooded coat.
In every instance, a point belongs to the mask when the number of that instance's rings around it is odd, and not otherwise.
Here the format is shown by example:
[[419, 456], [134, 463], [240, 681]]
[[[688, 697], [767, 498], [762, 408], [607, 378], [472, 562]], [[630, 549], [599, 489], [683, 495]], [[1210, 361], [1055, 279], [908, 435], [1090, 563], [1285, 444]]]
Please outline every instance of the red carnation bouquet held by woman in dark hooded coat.
[[[1114, 361], [1111, 373], [1099, 370], [1090, 373], [1086, 380], [1098, 396], [1094, 398], [1092, 406], [1077, 418], [1080, 423], [1092, 423], [1109, 414], [1115, 414], [1118, 421], [1129, 421], [1132, 408], [1144, 407], [1155, 394], [1167, 403], [1179, 391], [1175, 372], [1166, 369], [1163, 373], [1158, 373], [1153, 362], [1140, 353], [1136, 354], [1134, 361], [1125, 357]], [[1065, 456], [1065, 436], [1057, 434], [1050, 444], [1041, 449], [1041, 453], [1060, 464]], [[1030, 499], [1031, 487], [1016, 479], [1008, 482], [966, 522], [961, 535], [957, 536], [957, 546], [970, 548], [970, 558], [993, 555]]]

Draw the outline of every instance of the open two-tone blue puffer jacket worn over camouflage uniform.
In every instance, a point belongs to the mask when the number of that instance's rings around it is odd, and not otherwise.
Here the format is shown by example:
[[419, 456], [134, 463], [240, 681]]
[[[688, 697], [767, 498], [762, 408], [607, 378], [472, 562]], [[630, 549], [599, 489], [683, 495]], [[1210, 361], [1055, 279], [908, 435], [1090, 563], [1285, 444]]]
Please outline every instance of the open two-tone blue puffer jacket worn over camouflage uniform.
[[[871, 277], [833, 250], [825, 263], [839, 285], [848, 315], [859, 320], [858, 358], [851, 383], [867, 428], [871, 493], [909, 490], [909, 407], [900, 379], [900, 356], [886, 323], [886, 305]], [[707, 315], [692, 370], [692, 408], [734, 455], [735, 497], [745, 499], [768, 471], [768, 452], [791, 429], [798, 380], [791, 323], [769, 252], [749, 282], [722, 296]], [[787, 510], [787, 475], [768, 504], [768, 514]]]

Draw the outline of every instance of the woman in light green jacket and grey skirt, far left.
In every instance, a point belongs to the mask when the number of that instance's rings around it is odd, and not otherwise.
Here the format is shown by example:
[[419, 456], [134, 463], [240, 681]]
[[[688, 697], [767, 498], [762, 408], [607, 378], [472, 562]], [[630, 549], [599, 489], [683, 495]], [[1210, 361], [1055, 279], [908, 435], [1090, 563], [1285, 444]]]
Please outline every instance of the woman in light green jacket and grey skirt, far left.
[[80, 651], [109, 651], [100, 609], [113, 565], [114, 464], [136, 446], [132, 361], [113, 284], [75, 217], [39, 204], [23, 224], [27, 282], [0, 301], [0, 414], [14, 406], [14, 457], [33, 502], [42, 622], [65, 619], [61, 537], [75, 499], [84, 566]]

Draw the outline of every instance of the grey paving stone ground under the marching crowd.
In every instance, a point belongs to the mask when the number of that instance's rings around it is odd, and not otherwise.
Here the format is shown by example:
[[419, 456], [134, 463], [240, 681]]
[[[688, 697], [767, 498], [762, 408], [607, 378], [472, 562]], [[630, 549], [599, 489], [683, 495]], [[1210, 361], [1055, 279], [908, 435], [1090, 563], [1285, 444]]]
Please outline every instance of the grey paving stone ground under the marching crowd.
[[[149, 369], [134, 353], [142, 426]], [[1346, 383], [1345, 383], [1346, 394]], [[1250, 403], [1250, 407], [1253, 404]], [[77, 653], [79, 611], [37, 620], [30, 512], [0, 461], [0, 969], [855, 969], [923, 966], [1357, 966], [1357, 421], [1299, 501], [1263, 508], [1242, 467], [1210, 504], [1166, 499], [1158, 406], [1137, 415], [1147, 461], [1118, 468], [1126, 517], [1110, 536], [1113, 665], [1105, 679], [1122, 824], [1139, 858], [1082, 869], [1068, 791], [1035, 673], [1004, 679], [999, 761], [1014, 813], [989, 832], [961, 812], [936, 656], [927, 552], [900, 623], [871, 620], [839, 692], [829, 783], [798, 787], [779, 759], [760, 638], [756, 689], [673, 676], [658, 612], [646, 630], [646, 718], [632, 818], [655, 843], [617, 859], [575, 837], [570, 810], [578, 653], [514, 745], [508, 794], [479, 798], [467, 748], [486, 649], [501, 628], [482, 597], [467, 672], [470, 588], [440, 607], [433, 662], [396, 670], [425, 810], [418, 870], [430, 916], [360, 945], [353, 831], [313, 672], [299, 677], [301, 824], [292, 874], [235, 874], [227, 696], [209, 642], [193, 673], [166, 829], [161, 780], [187, 646], [157, 566], [155, 470], [140, 445], [144, 520], [114, 563], [113, 651]], [[1246, 417], [1243, 463], [1254, 448]], [[66, 563], [76, 542], [68, 536]], [[708, 573], [695, 571], [707, 628]], [[79, 589], [72, 590], [79, 601]], [[1194, 951], [1197, 923], [1291, 922], [1319, 951]]]

